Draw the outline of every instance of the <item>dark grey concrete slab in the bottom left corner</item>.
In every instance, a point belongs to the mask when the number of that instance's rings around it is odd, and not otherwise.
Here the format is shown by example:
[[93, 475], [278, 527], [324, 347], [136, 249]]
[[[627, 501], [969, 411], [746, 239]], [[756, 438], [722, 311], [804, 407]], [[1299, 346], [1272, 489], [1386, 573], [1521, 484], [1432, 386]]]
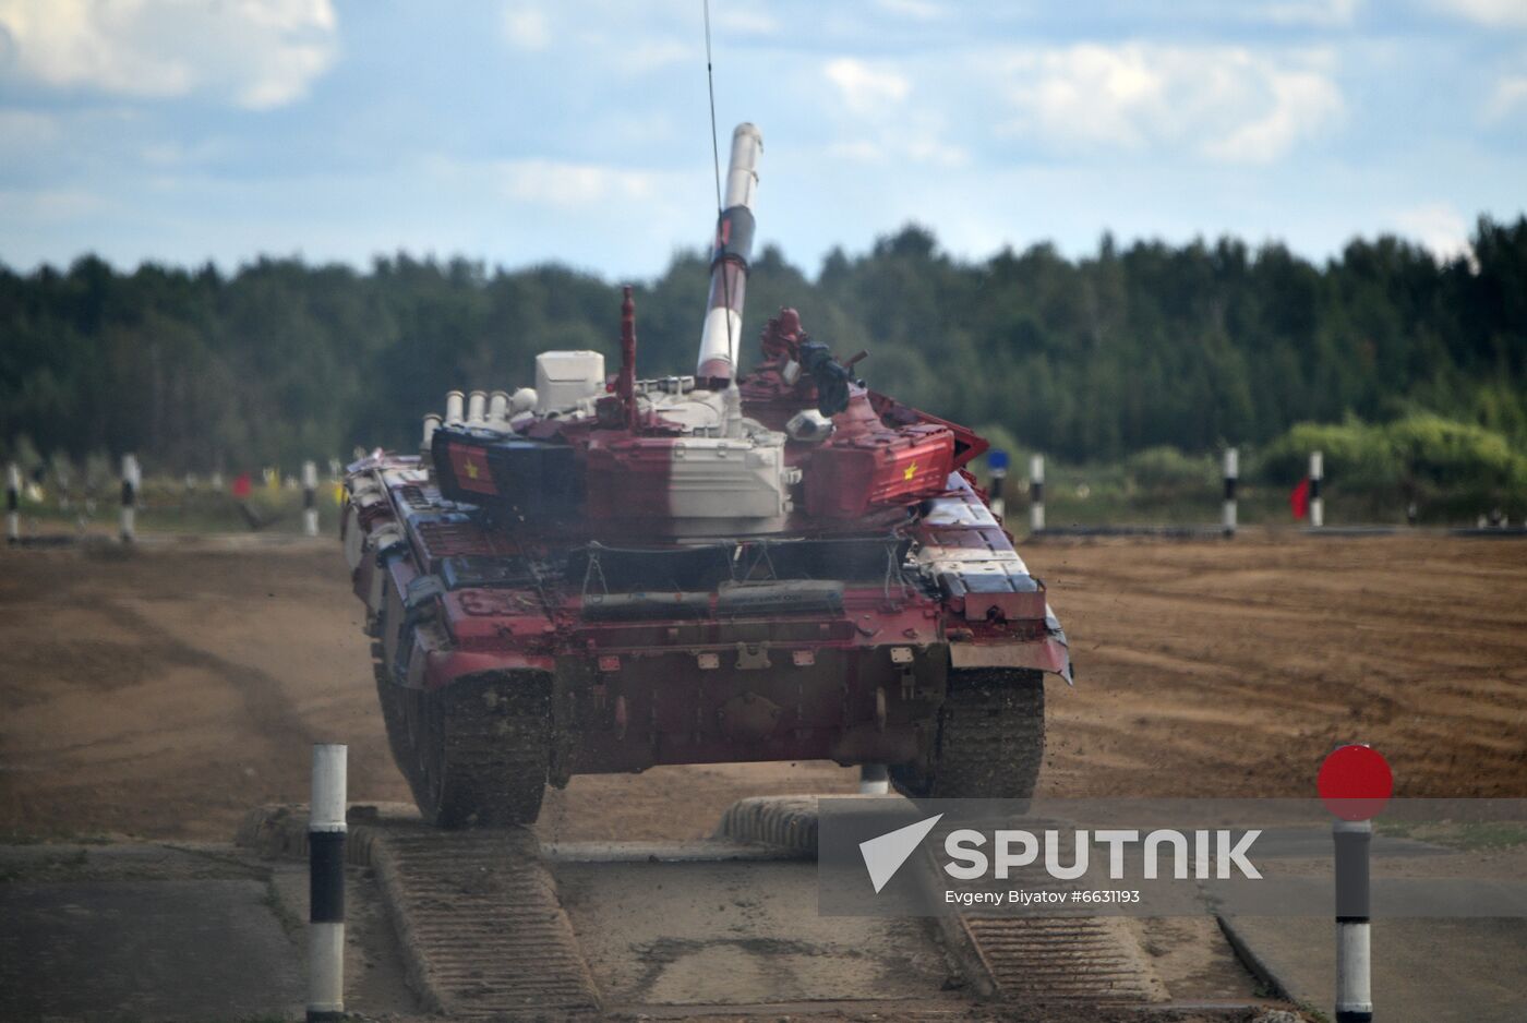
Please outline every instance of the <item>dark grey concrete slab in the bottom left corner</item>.
[[298, 950], [253, 879], [0, 886], [0, 1018], [302, 1012]]

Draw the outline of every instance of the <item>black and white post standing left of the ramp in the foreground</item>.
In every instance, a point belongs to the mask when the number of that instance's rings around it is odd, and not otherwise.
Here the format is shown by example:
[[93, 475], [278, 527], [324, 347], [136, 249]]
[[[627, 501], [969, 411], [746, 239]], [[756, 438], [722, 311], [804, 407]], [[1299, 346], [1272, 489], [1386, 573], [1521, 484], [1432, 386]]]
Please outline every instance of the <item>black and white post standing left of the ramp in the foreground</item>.
[[307, 1020], [345, 1017], [345, 756], [348, 747], [313, 745], [308, 803]]

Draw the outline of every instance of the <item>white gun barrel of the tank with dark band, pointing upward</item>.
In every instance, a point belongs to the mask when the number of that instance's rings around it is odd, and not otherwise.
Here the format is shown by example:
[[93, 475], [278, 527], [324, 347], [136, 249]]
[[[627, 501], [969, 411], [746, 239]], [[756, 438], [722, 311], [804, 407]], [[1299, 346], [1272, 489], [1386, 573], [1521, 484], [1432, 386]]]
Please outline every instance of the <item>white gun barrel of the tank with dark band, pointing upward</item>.
[[710, 301], [705, 305], [695, 371], [712, 388], [728, 385], [738, 371], [742, 302], [753, 250], [753, 194], [759, 185], [757, 165], [762, 154], [762, 133], [751, 124], [739, 124], [731, 133], [731, 159], [727, 163], [725, 192], [710, 253]]

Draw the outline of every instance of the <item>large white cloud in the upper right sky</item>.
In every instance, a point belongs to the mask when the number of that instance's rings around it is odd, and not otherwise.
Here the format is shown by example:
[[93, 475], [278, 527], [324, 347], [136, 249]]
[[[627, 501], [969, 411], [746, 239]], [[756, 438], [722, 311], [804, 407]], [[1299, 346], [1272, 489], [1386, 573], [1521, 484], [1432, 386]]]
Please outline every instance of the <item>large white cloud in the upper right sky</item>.
[[1177, 147], [1266, 163], [1341, 118], [1341, 92], [1324, 63], [1232, 46], [1020, 50], [1006, 61], [1019, 116], [1003, 131], [1069, 150]]

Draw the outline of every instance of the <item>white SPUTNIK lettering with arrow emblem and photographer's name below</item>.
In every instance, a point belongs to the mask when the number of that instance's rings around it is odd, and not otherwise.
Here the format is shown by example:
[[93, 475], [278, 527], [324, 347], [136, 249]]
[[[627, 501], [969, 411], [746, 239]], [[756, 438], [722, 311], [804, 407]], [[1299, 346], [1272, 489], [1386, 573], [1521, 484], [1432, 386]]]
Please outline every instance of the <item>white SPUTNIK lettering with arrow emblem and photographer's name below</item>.
[[[860, 855], [864, 857], [864, 869], [869, 872], [876, 895], [896, 876], [901, 866], [916, 852], [942, 817], [944, 814], [936, 814], [860, 843]], [[973, 828], [959, 828], [944, 837], [944, 855], [948, 860], [939, 863], [939, 869], [956, 881], [985, 878], [1006, 881], [1012, 870], [1038, 863], [1043, 847], [1044, 872], [1057, 881], [1075, 881], [1086, 876], [1092, 867], [1092, 847], [1098, 844], [1107, 846], [1110, 881], [1127, 878], [1125, 852], [1136, 846], [1142, 854], [1139, 876], [1147, 881], [1161, 876], [1164, 860], [1170, 861], [1171, 876], [1179, 881], [1190, 876], [1226, 881], [1234, 878], [1237, 870], [1243, 878], [1260, 879], [1261, 872], [1248, 857], [1260, 835], [1260, 829], [1241, 831], [1237, 835], [1228, 829], [1182, 832], [1159, 828], [1145, 832], [1144, 837], [1136, 829], [1075, 829], [1070, 832], [1070, 863], [1061, 863], [1066, 840], [1060, 829], [1044, 829], [1035, 834], [1014, 828], [997, 829], [988, 835]], [[1029, 904], [1031, 899], [1022, 901]], [[1043, 901], [1043, 898], [1034, 901]]]

